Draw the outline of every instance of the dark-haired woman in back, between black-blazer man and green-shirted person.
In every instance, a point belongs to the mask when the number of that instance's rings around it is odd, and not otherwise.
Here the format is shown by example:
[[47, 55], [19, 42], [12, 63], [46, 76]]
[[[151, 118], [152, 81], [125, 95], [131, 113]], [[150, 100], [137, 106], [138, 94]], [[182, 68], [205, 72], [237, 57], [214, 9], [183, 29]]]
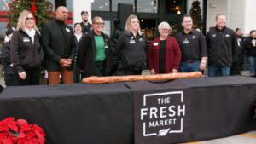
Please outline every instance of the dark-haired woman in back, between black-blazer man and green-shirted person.
[[79, 43], [81, 43], [82, 37], [85, 36], [85, 34], [82, 32], [82, 26], [80, 23], [75, 23], [74, 26], [74, 41], [76, 44], [76, 55], [75, 55], [75, 61], [73, 64], [73, 82], [74, 83], [79, 83], [81, 82], [81, 74], [79, 72], [79, 68], [77, 66], [77, 55], [78, 55], [78, 49], [79, 49]]

